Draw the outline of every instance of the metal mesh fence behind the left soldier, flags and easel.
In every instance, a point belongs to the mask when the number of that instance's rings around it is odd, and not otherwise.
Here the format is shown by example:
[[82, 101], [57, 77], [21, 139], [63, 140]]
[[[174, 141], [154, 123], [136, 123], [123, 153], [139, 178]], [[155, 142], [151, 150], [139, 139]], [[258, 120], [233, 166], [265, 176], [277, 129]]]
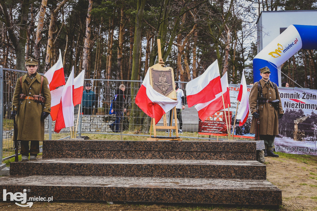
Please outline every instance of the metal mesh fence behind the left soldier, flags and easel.
[[[11, 118], [11, 102], [16, 85], [16, 80], [26, 73], [26, 71], [18, 71], [13, 69], [1, 68], [3, 74], [1, 82], [2, 103], [3, 106], [2, 119], [2, 152], [3, 160], [8, 159], [14, 155], [13, 143], [13, 119]], [[65, 80], [67, 77], [65, 77]], [[178, 89], [183, 90], [186, 95], [186, 83], [178, 82]], [[117, 113], [113, 100], [119, 92], [120, 85], [123, 84], [126, 88], [124, 91], [124, 98], [121, 99], [122, 114]], [[142, 81], [132, 80], [91, 80], [85, 79], [83, 88], [83, 98], [80, 112], [78, 112], [79, 105], [75, 106], [75, 121], [74, 127], [78, 119], [77, 131], [79, 135], [82, 134], [122, 134], [133, 136], [148, 136], [150, 130], [151, 118], [148, 117], [141, 109], [134, 103], [135, 96], [142, 84]], [[87, 87], [86, 87], [87, 85]], [[118, 104], [118, 103], [117, 103]], [[120, 110], [120, 109], [119, 109]], [[185, 106], [181, 110], [182, 117], [182, 131], [180, 137], [199, 138], [198, 131], [198, 113], [194, 107], [188, 108]], [[166, 113], [169, 120], [169, 112]], [[177, 119], [179, 125], [179, 119]], [[119, 127], [116, 128], [119, 124]], [[163, 125], [163, 118], [158, 125]], [[59, 133], [54, 132], [55, 122], [51, 120], [50, 116], [45, 120], [45, 136], [44, 140], [58, 140], [70, 136], [70, 129], [64, 128]], [[165, 130], [157, 130], [158, 135], [167, 136]], [[173, 131], [175, 132], [175, 131]], [[175, 134], [175, 133], [174, 133]], [[201, 135], [200, 135], [201, 137]], [[121, 136], [122, 138], [122, 136]], [[204, 138], [207, 138], [205, 136]], [[40, 144], [42, 145], [42, 143]]]

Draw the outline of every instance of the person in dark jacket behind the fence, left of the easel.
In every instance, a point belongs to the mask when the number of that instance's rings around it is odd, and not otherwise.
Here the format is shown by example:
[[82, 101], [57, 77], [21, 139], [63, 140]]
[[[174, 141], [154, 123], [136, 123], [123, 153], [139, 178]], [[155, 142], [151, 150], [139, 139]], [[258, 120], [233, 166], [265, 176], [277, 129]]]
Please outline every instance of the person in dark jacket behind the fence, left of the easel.
[[123, 118], [123, 112], [126, 112], [126, 108], [124, 108], [124, 102], [125, 102], [125, 96], [124, 96], [124, 91], [126, 90], [126, 86], [121, 84], [119, 86], [119, 89], [116, 91], [116, 95], [114, 96], [113, 99], [113, 109], [111, 112], [115, 112], [116, 114], [116, 120], [110, 125], [110, 128], [113, 132], [119, 132], [122, 131], [122, 127], [120, 127], [119, 130], [119, 125], [122, 121]]

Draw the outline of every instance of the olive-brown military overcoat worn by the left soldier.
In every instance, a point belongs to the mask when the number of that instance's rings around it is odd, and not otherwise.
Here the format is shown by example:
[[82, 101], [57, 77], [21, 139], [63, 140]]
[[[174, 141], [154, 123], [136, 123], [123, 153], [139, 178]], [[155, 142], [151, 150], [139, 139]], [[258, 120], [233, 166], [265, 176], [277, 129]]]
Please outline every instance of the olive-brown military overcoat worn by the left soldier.
[[44, 104], [28, 99], [19, 101], [19, 95], [21, 93], [26, 94], [26, 96], [40, 94], [41, 75], [39, 73], [36, 72], [36, 75], [33, 76], [32, 79], [28, 74], [25, 74], [16, 81], [11, 109], [18, 111], [16, 115], [16, 124], [18, 127], [17, 140], [44, 140], [44, 121], [41, 121], [41, 114], [42, 112], [50, 113], [51, 93], [49, 91], [47, 78], [45, 76], [42, 78], [41, 95], [46, 99]]

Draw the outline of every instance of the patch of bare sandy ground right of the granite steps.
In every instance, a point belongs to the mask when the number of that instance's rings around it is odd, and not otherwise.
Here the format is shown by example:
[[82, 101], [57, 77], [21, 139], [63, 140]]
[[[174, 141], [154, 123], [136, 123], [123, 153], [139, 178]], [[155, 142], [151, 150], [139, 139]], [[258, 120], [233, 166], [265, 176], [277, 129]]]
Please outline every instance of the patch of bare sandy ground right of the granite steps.
[[317, 163], [267, 158], [267, 179], [282, 190], [285, 210], [317, 210]]

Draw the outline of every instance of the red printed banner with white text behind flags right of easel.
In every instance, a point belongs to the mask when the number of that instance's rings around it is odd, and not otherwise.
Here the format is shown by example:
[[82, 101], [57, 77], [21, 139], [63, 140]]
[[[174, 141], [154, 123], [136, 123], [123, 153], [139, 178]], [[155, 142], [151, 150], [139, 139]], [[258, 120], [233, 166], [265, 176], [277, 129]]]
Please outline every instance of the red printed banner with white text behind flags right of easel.
[[[227, 122], [231, 122], [232, 112], [226, 111]], [[199, 134], [213, 136], [228, 136], [227, 125], [224, 111], [217, 111], [214, 115], [209, 116], [205, 121], [199, 119], [198, 123]]]

